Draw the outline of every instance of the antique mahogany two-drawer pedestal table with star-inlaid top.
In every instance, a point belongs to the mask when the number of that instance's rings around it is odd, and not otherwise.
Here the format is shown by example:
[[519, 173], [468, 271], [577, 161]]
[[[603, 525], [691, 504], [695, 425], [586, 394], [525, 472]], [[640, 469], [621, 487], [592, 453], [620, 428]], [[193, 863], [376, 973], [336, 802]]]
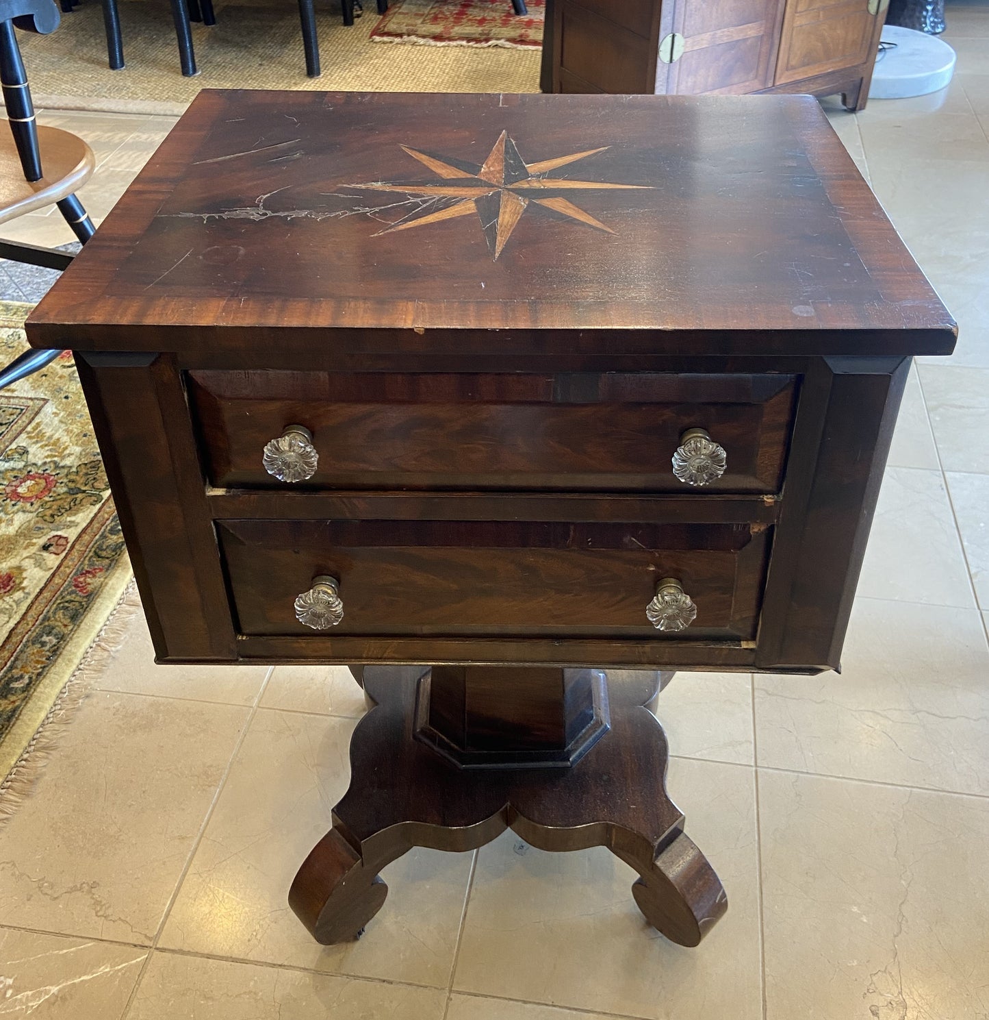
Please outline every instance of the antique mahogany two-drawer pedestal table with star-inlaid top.
[[290, 892], [324, 942], [507, 826], [699, 941], [646, 706], [838, 665], [910, 356], [954, 343], [782, 96], [203, 92], [28, 333], [76, 352], [158, 661], [376, 704]]

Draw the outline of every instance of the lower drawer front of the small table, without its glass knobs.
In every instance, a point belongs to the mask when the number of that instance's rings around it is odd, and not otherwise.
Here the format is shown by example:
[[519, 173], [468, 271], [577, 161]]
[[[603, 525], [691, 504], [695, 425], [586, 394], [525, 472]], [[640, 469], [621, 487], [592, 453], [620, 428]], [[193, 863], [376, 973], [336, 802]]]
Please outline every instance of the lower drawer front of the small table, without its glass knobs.
[[[244, 635], [568, 636], [747, 641], [771, 528], [762, 524], [222, 520]], [[339, 582], [344, 619], [296, 619], [313, 579]], [[674, 577], [696, 605], [682, 631], [645, 607]], [[395, 653], [401, 658], [401, 650]]]

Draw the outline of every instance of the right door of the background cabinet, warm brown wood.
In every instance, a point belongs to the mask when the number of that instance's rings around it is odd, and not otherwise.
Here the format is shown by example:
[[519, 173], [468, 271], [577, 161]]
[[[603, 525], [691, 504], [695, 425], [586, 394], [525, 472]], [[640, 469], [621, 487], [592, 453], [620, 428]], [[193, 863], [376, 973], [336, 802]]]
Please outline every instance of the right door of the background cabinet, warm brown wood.
[[875, 26], [867, 0], [796, 0], [788, 4], [776, 85], [865, 63]]

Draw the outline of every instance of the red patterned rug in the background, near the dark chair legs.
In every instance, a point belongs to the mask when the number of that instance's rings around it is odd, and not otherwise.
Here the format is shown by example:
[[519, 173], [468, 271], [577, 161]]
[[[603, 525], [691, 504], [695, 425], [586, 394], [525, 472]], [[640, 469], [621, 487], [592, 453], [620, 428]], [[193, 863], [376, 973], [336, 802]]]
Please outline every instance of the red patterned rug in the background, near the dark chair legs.
[[538, 49], [545, 0], [526, 0], [526, 6], [529, 13], [519, 15], [511, 0], [395, 0], [374, 27], [371, 39], [425, 46]]

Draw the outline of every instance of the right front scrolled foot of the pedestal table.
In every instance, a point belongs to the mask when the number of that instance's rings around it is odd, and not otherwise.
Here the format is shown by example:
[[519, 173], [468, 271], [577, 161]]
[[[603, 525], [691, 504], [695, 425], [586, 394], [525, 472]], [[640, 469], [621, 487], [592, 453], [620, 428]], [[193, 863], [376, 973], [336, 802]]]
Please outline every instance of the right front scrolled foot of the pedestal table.
[[682, 832], [639, 872], [632, 896], [646, 921], [672, 942], [696, 946], [728, 909], [721, 880]]

